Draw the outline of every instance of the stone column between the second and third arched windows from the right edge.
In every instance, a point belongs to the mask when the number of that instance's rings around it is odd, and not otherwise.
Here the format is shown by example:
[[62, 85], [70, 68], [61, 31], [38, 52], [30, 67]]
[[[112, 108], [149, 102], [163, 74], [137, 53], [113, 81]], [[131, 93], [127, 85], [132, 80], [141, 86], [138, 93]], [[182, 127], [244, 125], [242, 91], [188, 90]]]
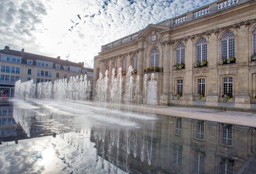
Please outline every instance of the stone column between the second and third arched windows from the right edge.
[[211, 34], [209, 36], [209, 42], [207, 43], [207, 61], [209, 67], [209, 75], [206, 80], [206, 101], [207, 102], [218, 102], [218, 75], [217, 75], [217, 64], [218, 64], [218, 49], [217, 49], [217, 35]]

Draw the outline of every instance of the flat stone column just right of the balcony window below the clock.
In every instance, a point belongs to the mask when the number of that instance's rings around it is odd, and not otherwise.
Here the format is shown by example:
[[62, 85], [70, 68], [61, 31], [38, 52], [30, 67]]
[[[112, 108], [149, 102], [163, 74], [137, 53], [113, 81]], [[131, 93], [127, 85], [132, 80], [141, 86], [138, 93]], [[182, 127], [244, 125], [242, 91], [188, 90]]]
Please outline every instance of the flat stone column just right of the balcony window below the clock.
[[163, 94], [160, 95], [160, 105], [168, 104], [169, 94], [169, 83], [170, 83], [170, 45], [167, 43], [163, 44]]

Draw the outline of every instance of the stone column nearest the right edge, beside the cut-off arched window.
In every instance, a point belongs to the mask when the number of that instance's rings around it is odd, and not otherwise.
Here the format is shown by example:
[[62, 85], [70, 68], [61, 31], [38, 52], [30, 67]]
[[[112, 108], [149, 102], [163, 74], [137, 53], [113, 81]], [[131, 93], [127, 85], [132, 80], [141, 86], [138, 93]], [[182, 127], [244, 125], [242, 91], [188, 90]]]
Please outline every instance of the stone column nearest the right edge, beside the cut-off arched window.
[[[248, 39], [247, 25], [242, 25], [236, 37], [236, 65], [238, 67], [237, 76], [233, 83], [236, 103], [250, 103], [249, 88], [249, 67], [248, 67]], [[251, 50], [251, 48], [250, 48]], [[235, 91], [236, 90], [236, 91]]]

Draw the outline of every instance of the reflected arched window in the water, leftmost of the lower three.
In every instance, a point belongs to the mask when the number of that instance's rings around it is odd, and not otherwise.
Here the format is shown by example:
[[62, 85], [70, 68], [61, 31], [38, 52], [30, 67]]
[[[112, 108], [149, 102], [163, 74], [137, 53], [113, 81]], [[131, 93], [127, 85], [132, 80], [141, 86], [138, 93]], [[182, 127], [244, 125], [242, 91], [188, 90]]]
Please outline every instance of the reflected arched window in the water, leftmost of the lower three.
[[181, 167], [182, 165], [182, 146], [180, 145], [173, 145], [173, 153], [171, 158], [171, 163], [174, 168]]

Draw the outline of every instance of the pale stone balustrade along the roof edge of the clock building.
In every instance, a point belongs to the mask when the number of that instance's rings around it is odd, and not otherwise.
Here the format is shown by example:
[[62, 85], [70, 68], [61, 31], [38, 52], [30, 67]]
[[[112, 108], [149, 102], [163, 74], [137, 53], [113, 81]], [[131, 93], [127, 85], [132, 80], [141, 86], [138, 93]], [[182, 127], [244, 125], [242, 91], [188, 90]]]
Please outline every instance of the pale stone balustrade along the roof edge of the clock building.
[[[158, 23], [156, 25], [164, 25], [167, 27], [175, 27], [178, 25], [182, 25], [185, 23], [188, 23], [193, 20], [197, 20], [198, 18], [209, 16], [214, 13], [221, 12], [222, 10], [226, 10], [229, 8], [232, 8], [233, 6], [241, 5], [246, 2], [250, 2], [254, 0], [220, 0], [213, 3], [210, 3], [206, 6], [203, 6], [201, 8], [192, 10], [191, 12], [181, 14], [180, 16], [170, 18], [169, 20], [165, 20], [161, 23]], [[108, 43], [107, 45], [101, 46], [101, 51], [112, 49], [113, 47], [120, 46], [122, 44], [131, 42], [135, 40], [140, 34], [141, 31], [136, 32], [134, 34], [131, 34], [129, 36], [126, 36], [125, 38], [121, 38], [118, 40], [115, 40], [114, 42]]]

